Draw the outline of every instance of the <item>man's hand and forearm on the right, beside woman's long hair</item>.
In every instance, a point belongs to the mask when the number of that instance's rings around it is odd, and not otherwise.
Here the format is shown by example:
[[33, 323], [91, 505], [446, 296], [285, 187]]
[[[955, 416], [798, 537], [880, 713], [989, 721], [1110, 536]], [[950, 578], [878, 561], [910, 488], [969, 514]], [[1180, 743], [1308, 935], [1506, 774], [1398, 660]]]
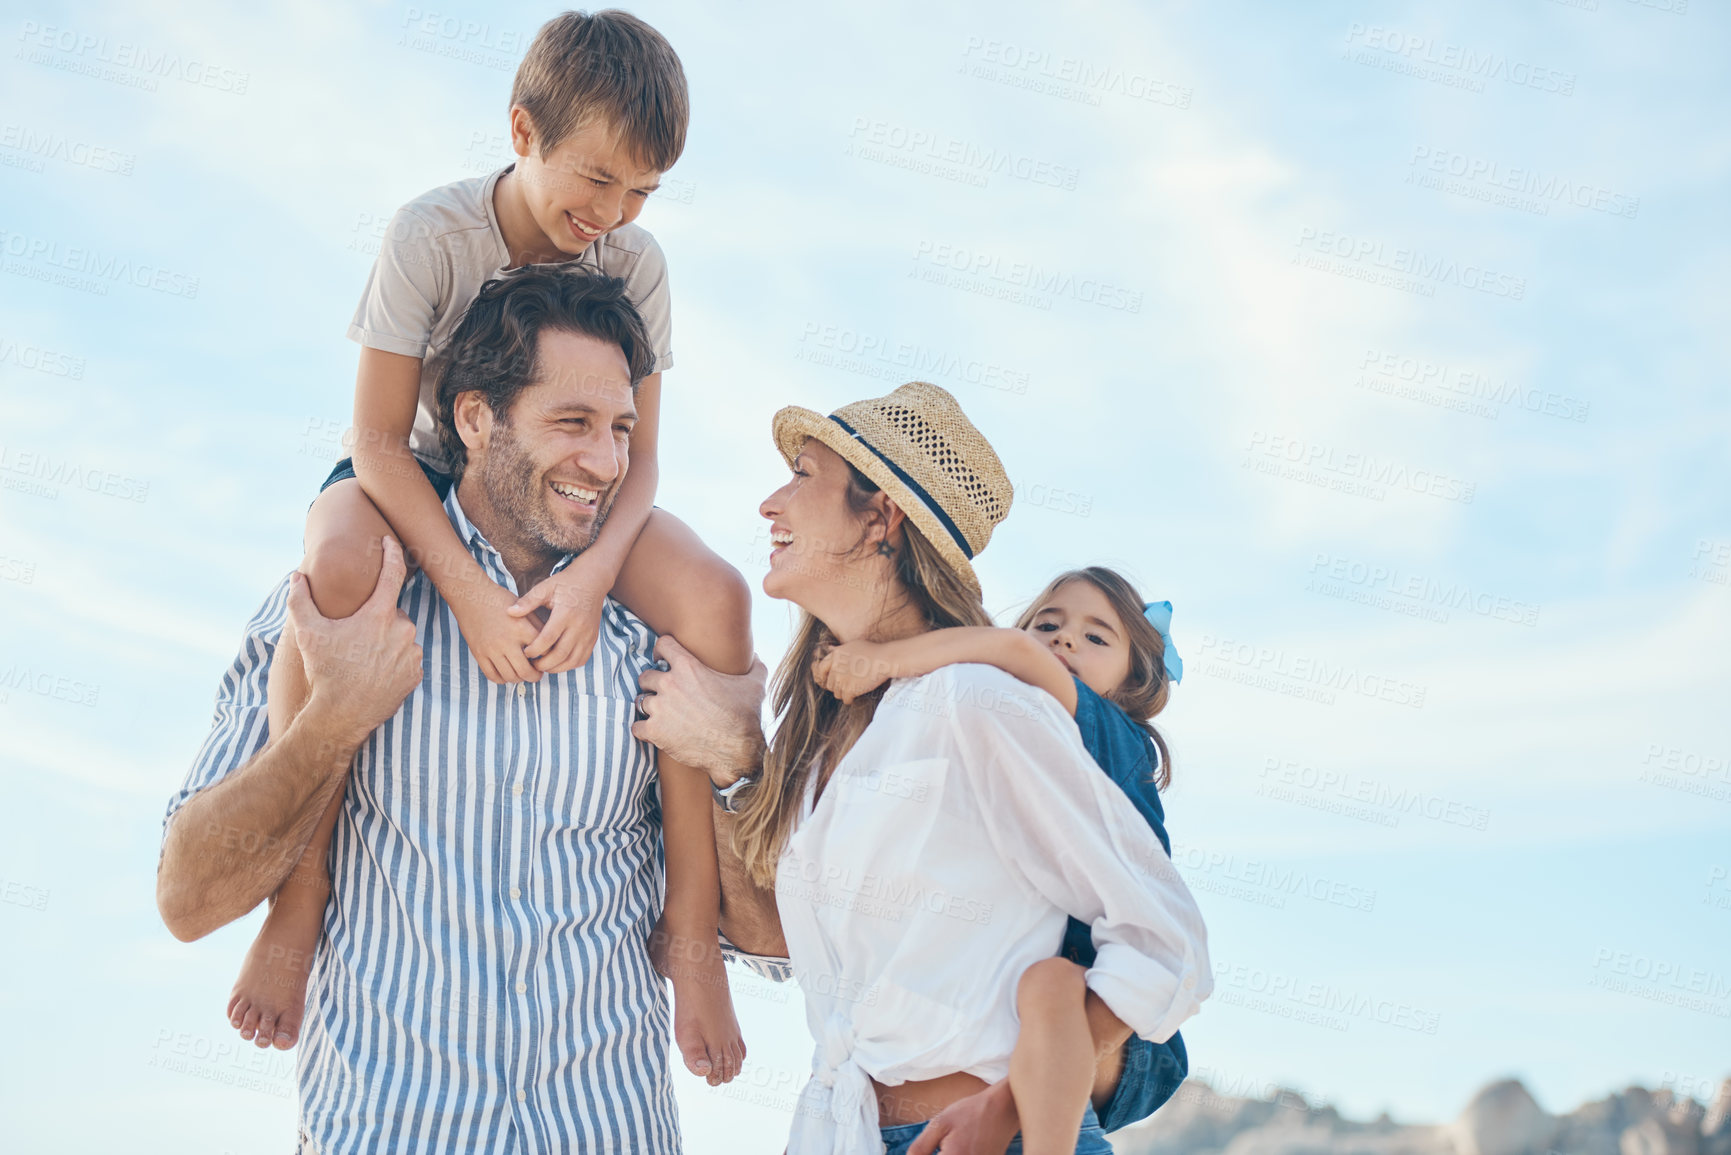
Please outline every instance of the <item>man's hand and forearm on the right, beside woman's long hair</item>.
[[[632, 734], [668, 758], [730, 786], [763, 771], [763, 682], [769, 670], [753, 658], [746, 674], [717, 674], [672, 637], [656, 641], [666, 670], [639, 679], [639, 720]], [[746, 786], [744, 790], [753, 790]], [[715, 850], [722, 864], [722, 933], [748, 954], [788, 956], [775, 892], [758, 887], [734, 852], [734, 816], [715, 812]]]

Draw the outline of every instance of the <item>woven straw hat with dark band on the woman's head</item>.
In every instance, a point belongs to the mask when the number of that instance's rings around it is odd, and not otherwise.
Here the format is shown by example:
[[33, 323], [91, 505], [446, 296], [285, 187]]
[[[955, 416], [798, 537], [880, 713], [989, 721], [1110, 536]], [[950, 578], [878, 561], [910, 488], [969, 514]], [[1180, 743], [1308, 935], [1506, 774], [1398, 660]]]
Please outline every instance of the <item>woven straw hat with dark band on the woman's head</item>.
[[888, 397], [843, 405], [827, 417], [800, 405], [775, 414], [775, 448], [793, 464], [815, 436], [886, 492], [962, 584], [992, 540], [1013, 495], [1004, 464], [945, 390], [909, 381]]

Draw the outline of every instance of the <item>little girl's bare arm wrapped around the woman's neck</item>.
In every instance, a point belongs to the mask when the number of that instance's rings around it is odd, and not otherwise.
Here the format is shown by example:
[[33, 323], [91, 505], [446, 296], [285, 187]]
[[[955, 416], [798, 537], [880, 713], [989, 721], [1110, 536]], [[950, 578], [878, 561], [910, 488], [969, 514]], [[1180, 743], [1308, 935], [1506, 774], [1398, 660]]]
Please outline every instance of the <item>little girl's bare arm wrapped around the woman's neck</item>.
[[812, 667], [817, 684], [841, 701], [853, 701], [891, 677], [924, 677], [957, 661], [995, 665], [1035, 689], [1044, 689], [1075, 717], [1075, 675], [1051, 649], [1023, 630], [992, 625], [956, 625], [893, 642], [853, 641], [819, 653]]

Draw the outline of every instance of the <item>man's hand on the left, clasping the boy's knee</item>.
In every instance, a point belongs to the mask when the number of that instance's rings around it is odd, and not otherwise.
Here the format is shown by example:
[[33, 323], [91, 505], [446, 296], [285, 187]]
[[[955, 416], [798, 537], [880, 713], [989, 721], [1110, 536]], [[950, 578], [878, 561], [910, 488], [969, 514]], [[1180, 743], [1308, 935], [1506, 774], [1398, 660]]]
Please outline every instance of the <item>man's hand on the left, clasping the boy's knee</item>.
[[305, 575], [291, 578], [289, 623], [306, 665], [306, 703], [346, 732], [370, 734], [421, 684], [415, 627], [396, 608], [405, 573], [403, 547], [386, 537], [379, 582], [346, 618], [319, 613]]

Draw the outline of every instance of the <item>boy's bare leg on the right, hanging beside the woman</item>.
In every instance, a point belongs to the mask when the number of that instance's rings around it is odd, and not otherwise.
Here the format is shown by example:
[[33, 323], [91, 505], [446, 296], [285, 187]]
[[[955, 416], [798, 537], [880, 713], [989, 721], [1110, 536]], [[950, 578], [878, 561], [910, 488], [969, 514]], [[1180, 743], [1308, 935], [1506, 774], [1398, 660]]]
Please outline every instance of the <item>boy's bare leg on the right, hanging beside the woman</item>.
[[[656, 634], [679, 639], [722, 674], [751, 668], [751, 590], [679, 518], [651, 509], [613, 596]], [[717, 940], [720, 866], [710, 783], [701, 771], [658, 755], [666, 842], [666, 909], [649, 940], [656, 970], [673, 980], [673, 1037], [685, 1067], [711, 1086], [744, 1061], [727, 968]]]

